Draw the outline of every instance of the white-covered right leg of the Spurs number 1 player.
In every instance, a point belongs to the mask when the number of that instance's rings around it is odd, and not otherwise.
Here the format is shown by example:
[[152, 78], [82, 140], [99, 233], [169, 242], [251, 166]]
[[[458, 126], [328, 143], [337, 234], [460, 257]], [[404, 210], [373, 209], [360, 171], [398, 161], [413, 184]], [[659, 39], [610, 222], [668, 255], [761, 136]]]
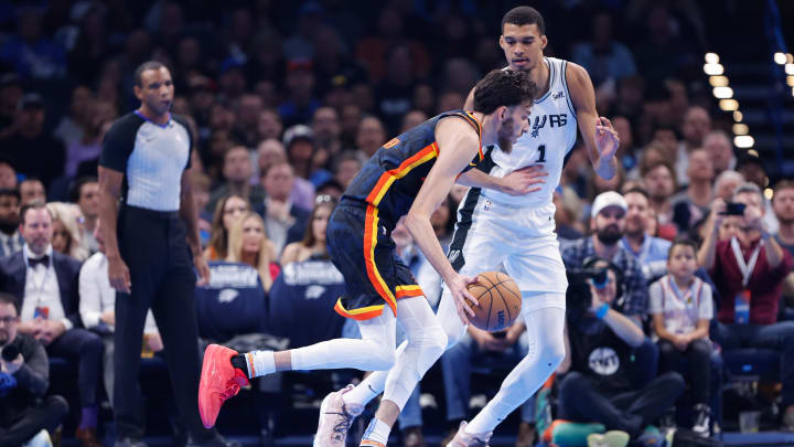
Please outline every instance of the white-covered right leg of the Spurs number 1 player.
[[[524, 294], [524, 305], [534, 299], [555, 299], [549, 295], [561, 294]], [[557, 298], [565, 302], [565, 296]], [[494, 398], [465, 427], [466, 434], [493, 432], [507, 415], [535, 394], [565, 356], [565, 307], [522, 309], [522, 316], [529, 331], [529, 351], [504, 380]], [[454, 440], [451, 444], [458, 445]]]

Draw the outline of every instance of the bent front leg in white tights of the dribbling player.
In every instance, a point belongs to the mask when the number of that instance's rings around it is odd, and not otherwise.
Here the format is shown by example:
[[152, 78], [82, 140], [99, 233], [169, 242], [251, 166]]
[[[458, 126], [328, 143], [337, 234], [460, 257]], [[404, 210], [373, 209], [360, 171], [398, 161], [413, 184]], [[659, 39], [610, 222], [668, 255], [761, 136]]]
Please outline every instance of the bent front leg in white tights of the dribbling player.
[[397, 301], [397, 318], [407, 340], [388, 372], [384, 398], [364, 433], [362, 445], [386, 445], [411, 392], [447, 347], [447, 334], [425, 297]]

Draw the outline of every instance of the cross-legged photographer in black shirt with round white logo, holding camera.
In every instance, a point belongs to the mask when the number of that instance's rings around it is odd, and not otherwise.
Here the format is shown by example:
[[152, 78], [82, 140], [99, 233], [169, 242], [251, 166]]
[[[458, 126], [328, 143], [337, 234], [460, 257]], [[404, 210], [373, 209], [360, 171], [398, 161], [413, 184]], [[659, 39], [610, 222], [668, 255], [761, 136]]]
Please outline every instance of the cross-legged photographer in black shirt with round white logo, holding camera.
[[[604, 269], [604, 266], [607, 268]], [[632, 383], [632, 350], [645, 336], [612, 308], [620, 287], [618, 267], [607, 260], [568, 275], [566, 356], [557, 369], [560, 417], [603, 424], [632, 438], [662, 416], [684, 391], [676, 372], [662, 374], [642, 389]]]

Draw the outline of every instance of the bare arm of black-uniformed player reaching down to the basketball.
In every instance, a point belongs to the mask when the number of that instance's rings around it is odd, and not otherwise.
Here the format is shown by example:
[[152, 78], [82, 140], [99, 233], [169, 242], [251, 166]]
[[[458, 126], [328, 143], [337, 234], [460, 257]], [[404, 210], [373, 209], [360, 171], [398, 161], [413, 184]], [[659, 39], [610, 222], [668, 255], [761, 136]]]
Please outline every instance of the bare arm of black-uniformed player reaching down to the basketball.
[[450, 288], [455, 299], [458, 315], [464, 323], [468, 323], [465, 313], [473, 317], [474, 312], [466, 304], [466, 299], [474, 304], [476, 300], [469, 294], [466, 285], [474, 283], [475, 278], [463, 277], [452, 268], [432, 230], [430, 215], [447, 198], [458, 174], [478, 153], [480, 141], [471, 125], [451, 117], [442, 119], [436, 127], [436, 141], [439, 147], [438, 160], [419, 189], [406, 216], [405, 225], [425, 257]]

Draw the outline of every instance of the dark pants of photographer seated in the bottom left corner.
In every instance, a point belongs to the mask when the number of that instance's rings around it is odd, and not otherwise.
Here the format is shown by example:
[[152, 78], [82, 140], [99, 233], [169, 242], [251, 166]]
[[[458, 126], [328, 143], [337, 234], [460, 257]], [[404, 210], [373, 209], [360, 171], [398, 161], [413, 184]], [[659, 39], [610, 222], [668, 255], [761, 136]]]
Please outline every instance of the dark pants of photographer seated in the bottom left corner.
[[47, 396], [41, 404], [19, 414], [12, 421], [3, 421], [0, 427], [0, 447], [19, 447], [36, 433], [46, 429], [50, 433], [61, 424], [68, 413], [68, 404], [61, 396]]

